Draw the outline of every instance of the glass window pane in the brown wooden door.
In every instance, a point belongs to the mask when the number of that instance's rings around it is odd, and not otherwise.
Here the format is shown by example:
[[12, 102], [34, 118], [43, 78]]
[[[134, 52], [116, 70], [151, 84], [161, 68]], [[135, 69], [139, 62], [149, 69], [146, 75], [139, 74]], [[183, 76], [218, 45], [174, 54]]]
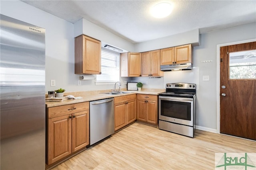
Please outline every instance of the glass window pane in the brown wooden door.
[[230, 79], [256, 79], [256, 50], [229, 54]]

